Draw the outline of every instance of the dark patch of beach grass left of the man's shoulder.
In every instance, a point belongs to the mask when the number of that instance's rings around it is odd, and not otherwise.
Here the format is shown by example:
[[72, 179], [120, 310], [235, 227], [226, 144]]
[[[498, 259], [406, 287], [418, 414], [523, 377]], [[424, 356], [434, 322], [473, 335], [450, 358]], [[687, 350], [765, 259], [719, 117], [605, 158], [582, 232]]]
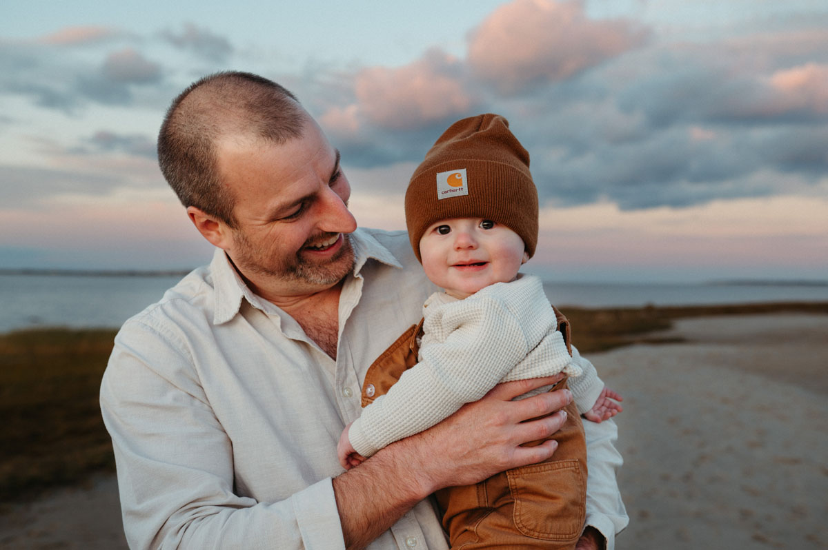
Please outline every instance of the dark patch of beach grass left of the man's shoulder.
[[0, 502], [114, 470], [98, 394], [115, 332], [0, 335]]

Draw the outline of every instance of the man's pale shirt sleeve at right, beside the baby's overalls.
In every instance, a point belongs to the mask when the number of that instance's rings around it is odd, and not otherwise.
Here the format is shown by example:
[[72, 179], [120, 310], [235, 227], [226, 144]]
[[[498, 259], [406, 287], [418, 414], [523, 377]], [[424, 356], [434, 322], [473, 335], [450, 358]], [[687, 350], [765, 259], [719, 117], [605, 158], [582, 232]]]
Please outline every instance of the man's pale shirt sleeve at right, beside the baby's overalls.
[[[572, 349], [582, 367], [589, 363], [580, 357], [575, 347]], [[601, 423], [585, 422], [584, 433], [586, 465], [589, 472], [586, 478], [585, 526], [598, 529], [606, 539], [607, 550], [613, 550], [615, 535], [629, 523], [627, 509], [624, 507], [615, 477], [616, 471], [623, 464], [621, 453], [615, 448], [618, 427], [612, 418]]]

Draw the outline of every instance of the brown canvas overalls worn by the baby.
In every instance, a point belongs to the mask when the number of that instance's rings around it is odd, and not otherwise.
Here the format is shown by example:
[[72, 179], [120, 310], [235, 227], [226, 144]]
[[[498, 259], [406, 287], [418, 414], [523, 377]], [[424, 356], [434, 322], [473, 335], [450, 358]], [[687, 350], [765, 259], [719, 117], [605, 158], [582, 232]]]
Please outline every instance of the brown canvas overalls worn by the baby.
[[[569, 321], [553, 309], [572, 355]], [[416, 341], [421, 330], [422, 321], [412, 325], [368, 367], [363, 407], [386, 394], [404, 371], [416, 365]], [[552, 390], [565, 387], [566, 379]], [[575, 402], [564, 409], [566, 423], [552, 437], [558, 448], [546, 462], [504, 471], [476, 485], [436, 492], [443, 528], [449, 533], [453, 550], [575, 548], [586, 516], [586, 443]]]

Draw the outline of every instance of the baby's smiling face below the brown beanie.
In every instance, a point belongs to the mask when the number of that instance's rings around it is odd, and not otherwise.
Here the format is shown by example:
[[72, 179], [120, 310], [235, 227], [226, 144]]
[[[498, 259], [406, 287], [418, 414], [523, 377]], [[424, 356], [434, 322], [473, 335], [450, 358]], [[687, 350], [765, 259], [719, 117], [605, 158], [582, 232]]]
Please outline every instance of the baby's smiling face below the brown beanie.
[[426, 275], [455, 298], [508, 283], [529, 259], [523, 240], [484, 218], [451, 218], [431, 225], [420, 239]]

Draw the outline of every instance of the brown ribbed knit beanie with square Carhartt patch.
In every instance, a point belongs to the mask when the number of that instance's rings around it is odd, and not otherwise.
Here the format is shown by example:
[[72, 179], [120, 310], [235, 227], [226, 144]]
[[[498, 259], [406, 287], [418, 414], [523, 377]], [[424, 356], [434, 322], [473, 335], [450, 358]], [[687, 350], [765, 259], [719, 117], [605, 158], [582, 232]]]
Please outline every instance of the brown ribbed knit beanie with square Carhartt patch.
[[485, 218], [523, 239], [529, 257], [537, 244], [537, 189], [529, 153], [500, 115], [484, 114], [452, 124], [426, 153], [406, 192], [406, 224], [414, 254], [432, 223]]

